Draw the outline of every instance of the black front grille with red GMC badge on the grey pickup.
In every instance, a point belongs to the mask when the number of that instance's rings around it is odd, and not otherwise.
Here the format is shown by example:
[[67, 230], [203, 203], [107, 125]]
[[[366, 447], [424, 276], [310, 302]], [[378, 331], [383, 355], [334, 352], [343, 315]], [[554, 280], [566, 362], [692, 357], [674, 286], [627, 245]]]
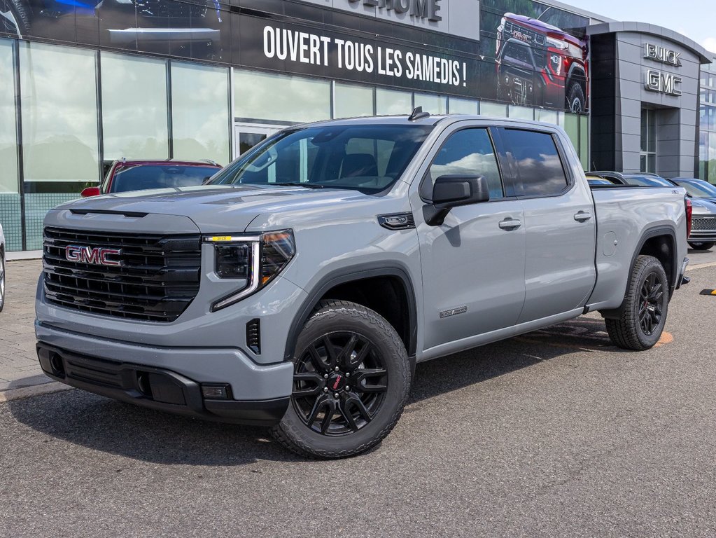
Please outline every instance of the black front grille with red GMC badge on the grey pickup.
[[[69, 247], [69, 249], [68, 249]], [[201, 239], [44, 229], [47, 301], [106, 316], [173, 322], [199, 292]], [[110, 249], [102, 264], [102, 249]]]

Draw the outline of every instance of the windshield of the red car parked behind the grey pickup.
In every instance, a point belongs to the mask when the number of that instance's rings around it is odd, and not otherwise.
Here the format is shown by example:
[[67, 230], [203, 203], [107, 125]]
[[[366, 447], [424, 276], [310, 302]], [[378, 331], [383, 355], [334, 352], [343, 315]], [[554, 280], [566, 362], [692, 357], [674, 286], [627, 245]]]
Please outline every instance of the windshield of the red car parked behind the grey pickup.
[[215, 166], [135, 165], [120, 168], [112, 178], [110, 193], [140, 191], [145, 188], [190, 187], [201, 185], [219, 170]]

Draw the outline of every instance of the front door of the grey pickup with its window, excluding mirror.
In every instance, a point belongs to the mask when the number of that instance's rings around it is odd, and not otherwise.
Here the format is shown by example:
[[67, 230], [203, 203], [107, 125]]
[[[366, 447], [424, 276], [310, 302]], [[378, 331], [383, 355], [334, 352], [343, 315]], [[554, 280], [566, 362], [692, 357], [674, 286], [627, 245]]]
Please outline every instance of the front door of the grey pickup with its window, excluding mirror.
[[452, 208], [442, 226], [428, 226], [420, 218], [422, 208], [414, 211], [419, 223], [425, 350], [511, 327], [523, 307], [522, 204], [505, 196], [495, 155], [487, 128], [457, 128], [440, 146], [423, 180], [423, 200], [432, 194], [432, 182], [443, 175], [485, 176], [490, 185], [490, 201]]

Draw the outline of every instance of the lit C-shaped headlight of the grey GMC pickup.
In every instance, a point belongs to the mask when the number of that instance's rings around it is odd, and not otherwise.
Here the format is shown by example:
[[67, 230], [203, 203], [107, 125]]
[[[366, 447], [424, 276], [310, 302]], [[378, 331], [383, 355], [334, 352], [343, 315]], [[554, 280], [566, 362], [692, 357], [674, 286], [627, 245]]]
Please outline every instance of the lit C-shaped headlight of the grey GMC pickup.
[[243, 279], [246, 285], [211, 305], [212, 312], [241, 301], [269, 284], [296, 254], [291, 230], [258, 236], [205, 236], [214, 245], [214, 272], [222, 279]]

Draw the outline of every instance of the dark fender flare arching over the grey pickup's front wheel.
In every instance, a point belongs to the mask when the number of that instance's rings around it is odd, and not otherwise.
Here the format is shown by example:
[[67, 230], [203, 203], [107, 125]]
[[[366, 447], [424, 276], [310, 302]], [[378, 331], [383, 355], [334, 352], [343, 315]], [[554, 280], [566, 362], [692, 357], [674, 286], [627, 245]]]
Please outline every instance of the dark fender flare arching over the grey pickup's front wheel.
[[284, 361], [293, 359], [296, 351], [296, 342], [299, 340], [299, 333], [303, 328], [306, 320], [309, 319], [311, 312], [321, 297], [339, 284], [347, 282], [363, 280], [373, 277], [396, 277], [402, 282], [405, 289], [408, 304], [408, 323], [410, 327], [409, 342], [407, 354], [410, 359], [411, 370], [415, 369], [415, 349], [417, 347], [417, 303], [415, 299], [415, 288], [412, 279], [407, 270], [399, 265], [388, 265], [384, 262], [373, 261], [364, 264], [356, 264], [343, 269], [336, 269], [326, 274], [316, 285], [308, 292], [308, 296], [301, 303], [294, 320], [289, 327], [289, 333], [286, 337], [286, 350], [284, 351]]

